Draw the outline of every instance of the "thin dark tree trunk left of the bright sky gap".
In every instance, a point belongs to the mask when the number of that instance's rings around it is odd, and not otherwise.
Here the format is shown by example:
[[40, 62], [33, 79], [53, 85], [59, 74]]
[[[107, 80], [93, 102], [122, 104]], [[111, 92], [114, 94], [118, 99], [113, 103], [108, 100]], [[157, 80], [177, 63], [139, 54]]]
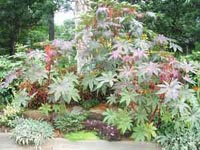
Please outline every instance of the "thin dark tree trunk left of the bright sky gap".
[[48, 18], [48, 26], [49, 26], [49, 41], [55, 39], [55, 25], [54, 25], [54, 11], [51, 11]]

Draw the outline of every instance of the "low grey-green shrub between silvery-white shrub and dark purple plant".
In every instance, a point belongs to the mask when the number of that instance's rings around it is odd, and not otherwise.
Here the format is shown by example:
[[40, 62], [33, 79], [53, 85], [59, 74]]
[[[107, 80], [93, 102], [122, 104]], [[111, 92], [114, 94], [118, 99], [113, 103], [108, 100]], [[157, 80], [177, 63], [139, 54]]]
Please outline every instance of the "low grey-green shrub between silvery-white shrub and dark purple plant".
[[83, 129], [82, 122], [85, 119], [85, 114], [65, 113], [55, 119], [54, 125], [56, 129], [63, 133], [76, 132]]

